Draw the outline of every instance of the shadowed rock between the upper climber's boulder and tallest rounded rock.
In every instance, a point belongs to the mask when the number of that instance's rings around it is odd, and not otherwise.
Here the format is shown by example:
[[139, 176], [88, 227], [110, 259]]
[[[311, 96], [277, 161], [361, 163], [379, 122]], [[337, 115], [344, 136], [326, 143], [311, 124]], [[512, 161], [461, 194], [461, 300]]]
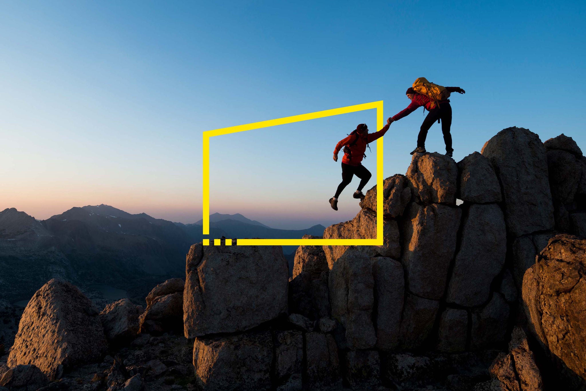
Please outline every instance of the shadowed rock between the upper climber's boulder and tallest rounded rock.
[[458, 162], [458, 179], [457, 198], [474, 203], [502, 201], [495, 169], [478, 152], [473, 152]]

